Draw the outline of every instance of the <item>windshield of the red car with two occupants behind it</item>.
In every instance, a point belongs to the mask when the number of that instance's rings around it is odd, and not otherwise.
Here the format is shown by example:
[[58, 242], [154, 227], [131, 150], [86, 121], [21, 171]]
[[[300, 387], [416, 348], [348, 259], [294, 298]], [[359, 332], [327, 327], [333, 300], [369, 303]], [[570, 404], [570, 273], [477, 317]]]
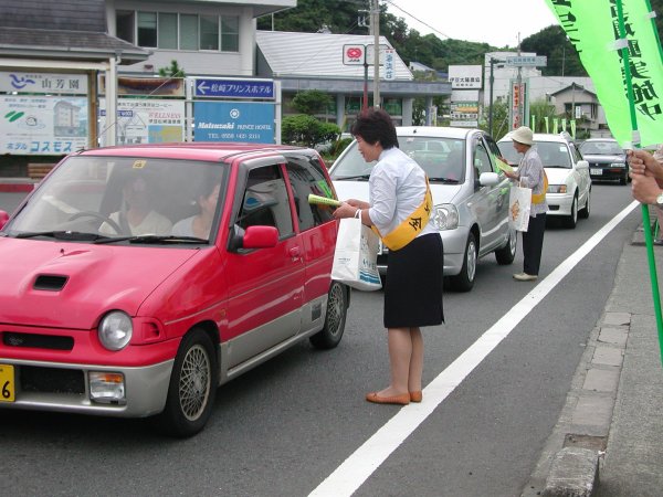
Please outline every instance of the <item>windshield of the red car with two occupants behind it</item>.
[[[222, 163], [72, 156], [30, 197], [3, 234], [90, 243], [206, 242], [197, 216], [217, 222]], [[211, 231], [213, 232], [213, 231]]]

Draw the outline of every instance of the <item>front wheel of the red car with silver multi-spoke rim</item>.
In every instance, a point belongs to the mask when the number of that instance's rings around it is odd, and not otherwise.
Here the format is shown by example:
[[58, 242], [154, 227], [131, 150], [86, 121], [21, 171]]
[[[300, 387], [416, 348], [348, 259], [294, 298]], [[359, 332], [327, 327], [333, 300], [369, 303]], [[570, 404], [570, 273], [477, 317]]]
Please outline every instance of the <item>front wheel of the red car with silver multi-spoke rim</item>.
[[202, 329], [193, 329], [185, 336], [177, 351], [159, 427], [182, 437], [200, 432], [212, 412], [218, 384], [219, 368], [212, 340]]

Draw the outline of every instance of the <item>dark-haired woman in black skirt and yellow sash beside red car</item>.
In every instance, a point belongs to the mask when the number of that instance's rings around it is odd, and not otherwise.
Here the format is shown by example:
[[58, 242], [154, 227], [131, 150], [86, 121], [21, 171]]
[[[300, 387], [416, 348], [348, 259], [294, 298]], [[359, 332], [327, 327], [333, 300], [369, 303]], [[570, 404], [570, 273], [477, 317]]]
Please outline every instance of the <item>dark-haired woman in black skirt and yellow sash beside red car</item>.
[[359, 152], [372, 168], [369, 201], [350, 199], [336, 219], [358, 216], [389, 247], [385, 282], [385, 315], [391, 382], [366, 395], [369, 402], [421, 402], [422, 326], [440, 325], [444, 252], [438, 230], [429, 222], [432, 197], [424, 171], [398, 148], [391, 117], [382, 109], [362, 112], [351, 133]]

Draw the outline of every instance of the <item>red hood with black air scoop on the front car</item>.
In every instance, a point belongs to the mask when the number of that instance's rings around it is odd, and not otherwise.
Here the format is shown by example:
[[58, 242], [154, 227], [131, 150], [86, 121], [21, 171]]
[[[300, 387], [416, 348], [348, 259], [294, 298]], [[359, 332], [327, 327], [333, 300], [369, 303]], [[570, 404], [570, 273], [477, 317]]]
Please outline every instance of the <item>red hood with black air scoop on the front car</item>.
[[91, 329], [109, 309], [135, 316], [197, 253], [0, 239], [0, 324]]

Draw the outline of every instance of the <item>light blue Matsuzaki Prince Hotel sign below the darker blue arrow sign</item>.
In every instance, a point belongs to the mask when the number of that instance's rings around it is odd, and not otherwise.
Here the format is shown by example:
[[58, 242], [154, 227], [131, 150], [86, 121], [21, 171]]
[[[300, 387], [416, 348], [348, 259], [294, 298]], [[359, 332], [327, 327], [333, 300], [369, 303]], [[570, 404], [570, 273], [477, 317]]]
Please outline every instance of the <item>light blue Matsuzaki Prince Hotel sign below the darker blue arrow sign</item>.
[[274, 104], [194, 102], [196, 141], [275, 144]]

